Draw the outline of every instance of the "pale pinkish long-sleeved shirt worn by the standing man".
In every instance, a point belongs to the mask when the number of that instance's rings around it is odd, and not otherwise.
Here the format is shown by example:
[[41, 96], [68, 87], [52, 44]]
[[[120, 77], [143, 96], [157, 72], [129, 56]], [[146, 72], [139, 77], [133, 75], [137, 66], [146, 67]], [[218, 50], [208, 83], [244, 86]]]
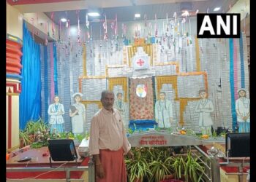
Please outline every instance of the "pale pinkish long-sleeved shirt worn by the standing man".
[[120, 112], [116, 108], [113, 113], [100, 109], [91, 119], [89, 154], [99, 154], [99, 149], [118, 151], [121, 147], [125, 154], [131, 149]]

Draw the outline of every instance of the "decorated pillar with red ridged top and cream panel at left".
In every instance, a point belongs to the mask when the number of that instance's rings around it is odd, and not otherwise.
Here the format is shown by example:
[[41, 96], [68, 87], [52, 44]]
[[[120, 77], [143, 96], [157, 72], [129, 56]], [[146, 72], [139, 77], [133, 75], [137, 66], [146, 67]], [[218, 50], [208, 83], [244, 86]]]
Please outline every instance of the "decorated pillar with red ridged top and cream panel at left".
[[6, 39], [6, 149], [19, 148], [20, 57], [22, 40], [7, 33]]

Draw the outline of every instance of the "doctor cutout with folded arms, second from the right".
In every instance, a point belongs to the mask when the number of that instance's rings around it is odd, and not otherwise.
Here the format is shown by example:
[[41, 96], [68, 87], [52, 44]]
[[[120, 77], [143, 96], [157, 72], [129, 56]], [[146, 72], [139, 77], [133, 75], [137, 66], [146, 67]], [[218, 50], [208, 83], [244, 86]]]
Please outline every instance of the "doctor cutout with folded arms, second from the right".
[[213, 125], [211, 119], [211, 112], [214, 111], [214, 104], [208, 100], [208, 92], [206, 90], [199, 90], [200, 100], [195, 107], [195, 111], [199, 112], [199, 126], [201, 127], [202, 135], [212, 135], [211, 126]]

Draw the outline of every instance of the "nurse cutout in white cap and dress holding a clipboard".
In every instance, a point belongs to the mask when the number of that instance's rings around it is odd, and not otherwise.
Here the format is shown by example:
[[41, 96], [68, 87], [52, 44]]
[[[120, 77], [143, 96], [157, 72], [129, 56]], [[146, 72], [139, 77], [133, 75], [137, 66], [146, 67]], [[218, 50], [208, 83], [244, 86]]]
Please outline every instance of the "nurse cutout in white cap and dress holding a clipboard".
[[83, 126], [86, 123], [86, 107], [80, 103], [83, 94], [76, 92], [72, 95], [75, 103], [69, 108], [69, 116], [71, 117], [72, 133], [74, 135], [83, 133]]

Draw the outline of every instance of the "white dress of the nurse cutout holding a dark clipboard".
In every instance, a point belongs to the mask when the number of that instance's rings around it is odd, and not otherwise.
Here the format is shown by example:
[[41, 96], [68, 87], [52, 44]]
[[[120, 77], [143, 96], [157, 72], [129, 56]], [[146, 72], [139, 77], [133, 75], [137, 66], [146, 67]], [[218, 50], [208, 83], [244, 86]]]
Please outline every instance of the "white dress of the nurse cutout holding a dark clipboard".
[[[72, 133], [81, 134], [83, 133], [83, 125], [86, 122], [86, 107], [83, 103], [74, 103], [72, 106], [75, 106], [75, 108], [78, 109], [78, 115], [75, 114], [75, 116], [72, 116], [71, 118]], [[72, 113], [70, 109], [69, 113]]]

